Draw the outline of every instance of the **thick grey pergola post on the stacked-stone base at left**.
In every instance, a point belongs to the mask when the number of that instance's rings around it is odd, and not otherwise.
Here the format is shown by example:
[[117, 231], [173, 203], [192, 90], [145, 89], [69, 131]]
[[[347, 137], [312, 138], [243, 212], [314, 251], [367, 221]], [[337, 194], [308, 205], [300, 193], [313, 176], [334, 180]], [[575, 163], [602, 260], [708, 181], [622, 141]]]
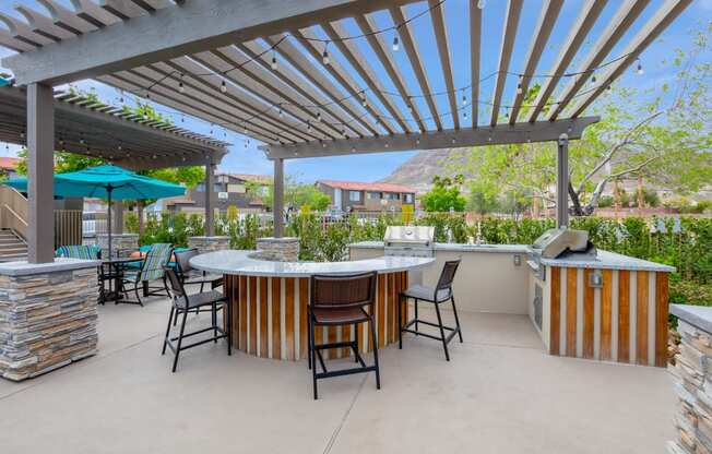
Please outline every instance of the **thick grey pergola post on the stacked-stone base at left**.
[[55, 97], [49, 85], [27, 86], [27, 260], [55, 260]]

